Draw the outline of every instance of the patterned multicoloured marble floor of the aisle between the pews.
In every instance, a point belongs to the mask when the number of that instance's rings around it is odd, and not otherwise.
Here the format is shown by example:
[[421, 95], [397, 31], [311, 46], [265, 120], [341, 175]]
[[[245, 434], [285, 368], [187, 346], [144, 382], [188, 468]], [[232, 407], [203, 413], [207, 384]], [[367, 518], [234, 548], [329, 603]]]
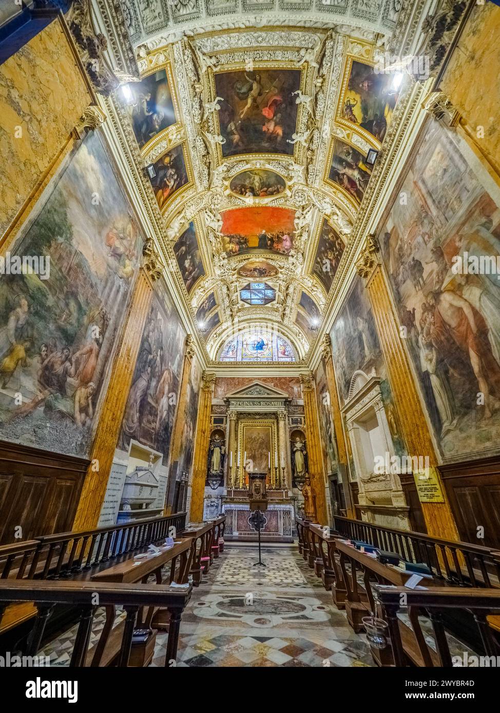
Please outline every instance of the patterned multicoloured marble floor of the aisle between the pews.
[[[178, 666], [372, 666], [364, 635], [355, 634], [297, 545], [226, 543], [180, 625]], [[153, 666], [163, 666], [158, 635]]]

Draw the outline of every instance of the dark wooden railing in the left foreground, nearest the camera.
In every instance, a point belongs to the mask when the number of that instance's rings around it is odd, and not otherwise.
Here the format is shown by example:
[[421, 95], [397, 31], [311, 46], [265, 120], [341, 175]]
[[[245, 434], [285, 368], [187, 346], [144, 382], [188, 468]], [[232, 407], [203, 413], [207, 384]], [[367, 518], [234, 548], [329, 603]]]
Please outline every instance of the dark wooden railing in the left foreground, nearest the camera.
[[[93, 617], [98, 607], [114, 609], [121, 606], [126, 612], [116, 647], [116, 665], [128, 665], [131, 655], [133, 631], [146, 607], [160, 607], [170, 614], [168, 642], [165, 652], [165, 666], [175, 665], [182, 612], [190, 600], [191, 586], [182, 590], [171, 589], [158, 584], [117, 584], [75, 581], [1, 580], [0, 581], [0, 624], [1, 618], [12, 603], [34, 602], [37, 607], [36, 620], [31, 629], [24, 654], [35, 656], [39, 652], [46, 622], [56, 605], [72, 605], [78, 609], [78, 630], [71, 654], [70, 666], [88, 665], [88, 644], [91, 637]], [[98, 605], [96, 605], [98, 601]], [[112, 622], [111, 622], [112, 623]], [[103, 631], [104, 644], [109, 631]], [[102, 651], [100, 652], [102, 655]], [[99, 665], [92, 660], [91, 665]]]

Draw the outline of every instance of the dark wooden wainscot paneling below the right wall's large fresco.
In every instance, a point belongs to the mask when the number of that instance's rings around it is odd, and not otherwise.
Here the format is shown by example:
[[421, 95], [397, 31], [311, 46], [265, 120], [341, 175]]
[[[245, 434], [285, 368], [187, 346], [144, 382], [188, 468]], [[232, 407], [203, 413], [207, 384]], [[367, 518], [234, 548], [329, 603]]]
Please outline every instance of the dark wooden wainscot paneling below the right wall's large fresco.
[[439, 472], [460, 539], [500, 549], [500, 457], [450, 463]]

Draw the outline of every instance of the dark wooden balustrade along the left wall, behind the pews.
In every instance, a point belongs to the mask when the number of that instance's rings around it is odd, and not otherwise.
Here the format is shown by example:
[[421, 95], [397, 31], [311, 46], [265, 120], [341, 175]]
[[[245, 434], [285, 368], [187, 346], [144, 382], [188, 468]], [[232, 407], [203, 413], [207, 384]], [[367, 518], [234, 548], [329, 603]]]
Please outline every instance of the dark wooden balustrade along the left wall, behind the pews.
[[0, 580], [74, 578], [83, 570], [168, 537], [185, 528], [186, 513], [137, 520], [78, 533], [58, 533], [0, 547]]

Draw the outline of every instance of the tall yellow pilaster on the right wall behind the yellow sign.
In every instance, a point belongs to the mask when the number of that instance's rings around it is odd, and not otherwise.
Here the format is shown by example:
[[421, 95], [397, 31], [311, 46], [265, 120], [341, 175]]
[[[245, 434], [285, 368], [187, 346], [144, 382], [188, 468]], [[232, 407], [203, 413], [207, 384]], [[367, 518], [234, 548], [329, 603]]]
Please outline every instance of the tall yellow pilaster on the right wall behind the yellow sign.
[[392, 299], [382, 269], [376, 239], [369, 235], [356, 269], [366, 281], [369, 300], [377, 327], [387, 374], [397, 407], [402, 436], [409, 456], [428, 456], [433, 475], [441, 486], [444, 503], [422, 503], [429, 535], [458, 540], [458, 532], [447, 500], [444, 485], [437, 470], [437, 456], [422, 409], [407, 352], [399, 334], [399, 322], [392, 307]]

